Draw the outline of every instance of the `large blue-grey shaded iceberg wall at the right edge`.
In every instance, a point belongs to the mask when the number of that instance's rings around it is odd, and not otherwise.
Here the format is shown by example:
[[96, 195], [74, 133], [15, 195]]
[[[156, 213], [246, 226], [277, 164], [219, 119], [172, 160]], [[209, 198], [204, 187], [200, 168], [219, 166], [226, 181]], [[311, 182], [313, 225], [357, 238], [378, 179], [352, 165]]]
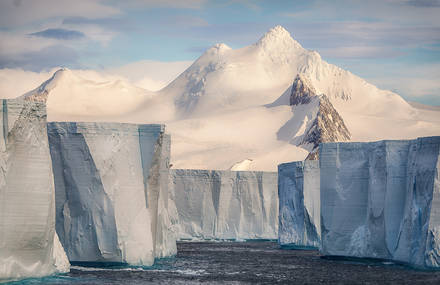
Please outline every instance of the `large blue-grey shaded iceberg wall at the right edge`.
[[440, 137], [320, 147], [322, 252], [440, 267]]

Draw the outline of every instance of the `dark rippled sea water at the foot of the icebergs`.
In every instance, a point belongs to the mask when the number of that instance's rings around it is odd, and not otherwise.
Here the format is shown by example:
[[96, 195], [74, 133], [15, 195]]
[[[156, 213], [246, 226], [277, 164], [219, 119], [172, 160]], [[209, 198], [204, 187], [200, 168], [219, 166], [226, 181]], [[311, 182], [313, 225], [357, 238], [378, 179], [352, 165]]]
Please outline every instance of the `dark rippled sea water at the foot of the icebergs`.
[[152, 267], [86, 267], [10, 284], [440, 284], [440, 271], [381, 261], [322, 258], [272, 241], [179, 242]]

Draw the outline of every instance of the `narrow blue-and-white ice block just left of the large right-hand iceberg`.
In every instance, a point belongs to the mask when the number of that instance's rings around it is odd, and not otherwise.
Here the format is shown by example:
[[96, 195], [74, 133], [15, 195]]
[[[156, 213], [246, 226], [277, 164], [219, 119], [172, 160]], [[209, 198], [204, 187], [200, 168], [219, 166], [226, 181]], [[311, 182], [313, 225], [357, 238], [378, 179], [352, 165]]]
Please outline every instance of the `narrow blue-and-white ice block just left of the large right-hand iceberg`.
[[320, 246], [319, 181], [317, 160], [278, 165], [278, 241], [281, 245]]

